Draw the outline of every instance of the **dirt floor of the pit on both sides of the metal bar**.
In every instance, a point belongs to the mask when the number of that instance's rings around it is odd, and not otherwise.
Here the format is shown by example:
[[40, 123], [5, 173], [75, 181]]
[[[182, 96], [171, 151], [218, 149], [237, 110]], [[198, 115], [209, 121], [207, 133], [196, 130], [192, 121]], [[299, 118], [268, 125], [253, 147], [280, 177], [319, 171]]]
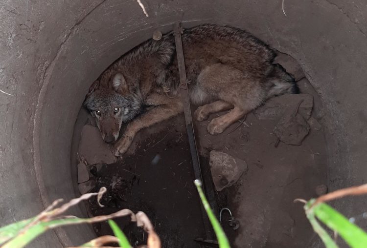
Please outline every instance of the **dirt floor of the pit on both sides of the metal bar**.
[[[302, 82], [302, 93], [317, 98]], [[249, 167], [236, 184], [216, 193], [219, 209], [228, 207], [239, 221], [239, 228], [233, 230], [229, 214], [223, 216], [231, 247], [305, 247], [314, 234], [302, 205], [293, 200], [316, 197], [316, 187], [327, 185], [322, 129], [311, 129], [300, 146], [280, 142], [275, 147], [276, 118], [259, 120], [249, 114], [245, 122], [233, 124], [220, 135], [209, 135], [206, 125], [221, 114], [195, 122], [195, 129], [203, 167], [207, 168], [213, 149], [244, 160]], [[311, 117], [318, 119], [317, 111]], [[183, 115], [143, 130], [123, 160], [102, 166], [98, 172], [92, 169], [96, 188], [108, 187], [102, 201], [106, 207], [91, 202], [92, 214], [141, 210], [151, 218], [163, 248], [200, 247], [193, 239], [205, 238], [205, 232], [190, 161]], [[146, 234], [134, 224], [126, 219], [117, 223], [132, 244], [146, 242]], [[112, 234], [106, 223], [94, 229], [97, 235]]]

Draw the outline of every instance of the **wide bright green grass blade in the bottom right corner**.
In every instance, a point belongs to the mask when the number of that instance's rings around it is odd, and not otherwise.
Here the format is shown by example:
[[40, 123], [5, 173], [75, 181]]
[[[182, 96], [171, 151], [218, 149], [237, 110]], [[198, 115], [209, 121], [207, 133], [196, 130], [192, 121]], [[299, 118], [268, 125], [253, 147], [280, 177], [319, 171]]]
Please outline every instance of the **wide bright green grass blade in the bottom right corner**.
[[367, 247], [366, 232], [350, 223], [340, 212], [325, 203], [314, 206], [312, 210], [322, 223], [338, 232], [350, 247]]

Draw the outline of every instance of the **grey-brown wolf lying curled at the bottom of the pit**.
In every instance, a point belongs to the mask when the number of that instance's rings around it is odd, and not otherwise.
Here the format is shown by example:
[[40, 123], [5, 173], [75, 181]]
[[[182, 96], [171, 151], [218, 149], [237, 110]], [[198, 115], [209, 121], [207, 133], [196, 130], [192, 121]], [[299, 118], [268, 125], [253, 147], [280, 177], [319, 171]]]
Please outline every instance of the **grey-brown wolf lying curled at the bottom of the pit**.
[[[230, 124], [273, 96], [296, 94], [294, 78], [279, 64], [275, 51], [249, 32], [203, 24], [184, 31], [184, 60], [190, 101], [197, 121], [212, 119], [207, 132], [222, 133]], [[106, 143], [122, 156], [142, 128], [183, 112], [175, 40], [172, 34], [149, 40], [110, 65], [92, 83], [84, 105]], [[123, 123], [128, 123], [118, 140]]]

